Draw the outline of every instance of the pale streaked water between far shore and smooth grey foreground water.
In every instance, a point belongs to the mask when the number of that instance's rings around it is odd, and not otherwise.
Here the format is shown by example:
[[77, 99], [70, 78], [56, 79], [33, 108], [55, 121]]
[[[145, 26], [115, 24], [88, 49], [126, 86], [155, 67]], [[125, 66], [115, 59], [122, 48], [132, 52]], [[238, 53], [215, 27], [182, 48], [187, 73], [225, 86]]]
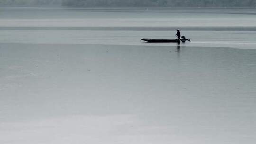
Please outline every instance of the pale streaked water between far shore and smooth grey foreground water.
[[145, 45], [141, 38], [174, 39], [180, 28], [193, 41], [186, 46], [256, 48], [255, 8], [0, 8], [0, 13], [1, 43]]

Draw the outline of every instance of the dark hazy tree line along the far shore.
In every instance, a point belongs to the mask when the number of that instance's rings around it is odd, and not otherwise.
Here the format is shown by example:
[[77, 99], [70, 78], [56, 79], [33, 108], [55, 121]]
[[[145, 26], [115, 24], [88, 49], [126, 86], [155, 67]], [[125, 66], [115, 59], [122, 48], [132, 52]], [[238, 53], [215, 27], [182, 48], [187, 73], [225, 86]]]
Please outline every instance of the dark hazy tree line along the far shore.
[[67, 7], [255, 7], [256, 0], [0, 0], [0, 5]]

